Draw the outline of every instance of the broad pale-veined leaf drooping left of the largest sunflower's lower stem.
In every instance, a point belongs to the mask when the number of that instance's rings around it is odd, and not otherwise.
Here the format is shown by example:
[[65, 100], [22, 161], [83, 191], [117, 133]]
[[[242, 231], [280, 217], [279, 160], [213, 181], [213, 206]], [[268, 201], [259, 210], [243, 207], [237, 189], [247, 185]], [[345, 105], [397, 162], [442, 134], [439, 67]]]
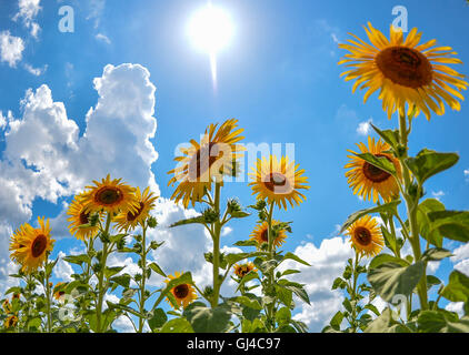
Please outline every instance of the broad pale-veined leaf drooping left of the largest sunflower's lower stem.
[[395, 295], [409, 296], [425, 273], [425, 263], [419, 261], [410, 266], [385, 263], [368, 273], [371, 286], [386, 302]]

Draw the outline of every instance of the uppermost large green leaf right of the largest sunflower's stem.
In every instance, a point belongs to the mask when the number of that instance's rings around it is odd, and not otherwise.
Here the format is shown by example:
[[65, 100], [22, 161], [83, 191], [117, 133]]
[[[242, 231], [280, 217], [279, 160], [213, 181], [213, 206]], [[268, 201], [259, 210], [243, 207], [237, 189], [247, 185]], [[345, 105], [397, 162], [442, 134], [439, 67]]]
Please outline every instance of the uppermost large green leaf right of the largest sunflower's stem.
[[425, 149], [416, 158], [406, 159], [406, 164], [420, 185], [423, 185], [428, 179], [450, 169], [458, 161], [459, 155], [456, 153], [438, 153]]

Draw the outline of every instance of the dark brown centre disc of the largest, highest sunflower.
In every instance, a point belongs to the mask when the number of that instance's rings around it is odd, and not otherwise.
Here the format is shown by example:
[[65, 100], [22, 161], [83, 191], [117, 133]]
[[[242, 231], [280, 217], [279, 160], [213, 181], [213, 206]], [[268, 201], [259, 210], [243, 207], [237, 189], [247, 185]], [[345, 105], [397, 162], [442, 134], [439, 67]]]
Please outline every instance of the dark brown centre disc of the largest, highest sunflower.
[[386, 78], [402, 87], [418, 89], [433, 80], [430, 61], [411, 48], [387, 48], [376, 57], [376, 64]]

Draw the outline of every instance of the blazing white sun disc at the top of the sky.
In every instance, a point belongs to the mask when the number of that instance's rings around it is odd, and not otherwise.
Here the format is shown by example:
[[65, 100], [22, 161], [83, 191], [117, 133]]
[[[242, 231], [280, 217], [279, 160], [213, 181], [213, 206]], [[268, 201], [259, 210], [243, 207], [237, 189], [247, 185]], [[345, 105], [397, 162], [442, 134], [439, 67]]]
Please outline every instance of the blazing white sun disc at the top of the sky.
[[188, 32], [198, 49], [216, 55], [230, 43], [233, 37], [233, 23], [228, 12], [208, 3], [193, 13]]

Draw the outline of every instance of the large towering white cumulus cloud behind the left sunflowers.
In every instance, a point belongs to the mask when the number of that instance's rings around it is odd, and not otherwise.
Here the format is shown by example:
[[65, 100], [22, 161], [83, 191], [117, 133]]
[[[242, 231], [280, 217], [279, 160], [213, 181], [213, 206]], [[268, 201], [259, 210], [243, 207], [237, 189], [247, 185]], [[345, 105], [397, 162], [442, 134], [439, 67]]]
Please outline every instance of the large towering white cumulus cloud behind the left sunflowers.
[[[27, 91], [20, 119], [1, 114], [0, 260], [8, 260], [11, 231], [31, 219], [38, 197], [58, 203], [108, 173], [159, 194], [151, 172], [158, 155], [150, 143], [157, 121], [149, 71], [138, 64], [107, 65], [94, 89], [99, 99], [86, 116], [82, 136], [47, 85]], [[66, 217], [62, 212], [52, 223], [59, 237], [68, 235]], [[62, 271], [67, 275], [66, 264]], [[0, 272], [0, 283], [7, 274]]]

